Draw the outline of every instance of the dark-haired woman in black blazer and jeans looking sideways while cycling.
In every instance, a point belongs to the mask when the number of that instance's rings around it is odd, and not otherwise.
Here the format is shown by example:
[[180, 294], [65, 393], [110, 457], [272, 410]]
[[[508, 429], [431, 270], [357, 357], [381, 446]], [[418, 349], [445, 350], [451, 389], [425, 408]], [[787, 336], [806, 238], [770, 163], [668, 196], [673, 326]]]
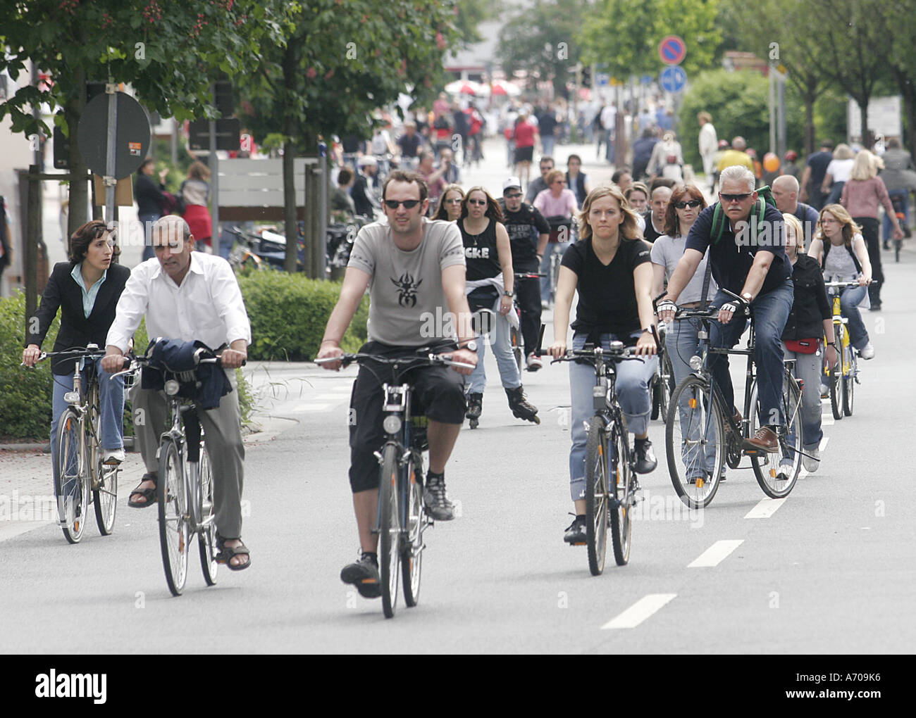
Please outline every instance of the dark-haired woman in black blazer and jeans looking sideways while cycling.
[[[70, 239], [70, 262], [54, 265], [38, 311], [28, 322], [26, 348], [22, 361], [34, 367], [41, 353], [41, 343], [60, 308], [60, 331], [54, 351], [85, 348], [97, 344], [104, 350], [108, 327], [114, 322], [114, 309], [124, 291], [130, 270], [113, 264], [118, 248], [114, 232], [109, 232], [101, 220], [86, 222]], [[76, 359], [52, 359], [54, 375], [53, 410], [51, 414], [51, 451], [56, 453], [54, 437], [60, 414], [67, 408], [63, 396], [73, 389]], [[124, 379], [109, 380], [96, 363], [99, 376], [99, 407], [101, 413], [102, 449], [105, 463], [124, 460]], [[54, 466], [57, 457], [54, 456]]]

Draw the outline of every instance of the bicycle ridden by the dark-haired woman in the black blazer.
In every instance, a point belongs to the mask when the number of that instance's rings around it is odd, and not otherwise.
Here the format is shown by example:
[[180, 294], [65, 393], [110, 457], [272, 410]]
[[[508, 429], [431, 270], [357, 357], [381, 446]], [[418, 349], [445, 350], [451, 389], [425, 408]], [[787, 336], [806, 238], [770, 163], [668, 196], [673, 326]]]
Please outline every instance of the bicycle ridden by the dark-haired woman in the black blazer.
[[54, 497], [57, 499], [59, 525], [64, 538], [79, 543], [89, 513], [90, 492], [95, 505], [95, 522], [99, 533], [110, 536], [114, 531], [117, 510], [117, 480], [120, 465], [104, 464], [100, 443], [99, 378], [95, 361], [104, 357], [97, 344], [67, 351], [41, 352], [38, 361], [54, 357], [88, 359], [86, 387], [82, 388], [80, 361], [73, 370], [73, 389], [64, 394], [67, 408], [60, 414], [57, 435], [57, 466], [54, 473]]

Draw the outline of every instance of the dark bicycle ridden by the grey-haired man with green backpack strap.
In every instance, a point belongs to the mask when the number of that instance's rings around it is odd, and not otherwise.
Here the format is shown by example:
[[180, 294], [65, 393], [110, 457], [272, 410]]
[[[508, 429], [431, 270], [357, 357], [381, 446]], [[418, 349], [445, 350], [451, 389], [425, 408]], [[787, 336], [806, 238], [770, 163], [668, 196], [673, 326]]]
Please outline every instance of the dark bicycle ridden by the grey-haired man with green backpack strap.
[[[731, 292], [725, 294], [738, 298]], [[675, 321], [698, 319], [702, 328], [699, 355], [690, 359], [692, 373], [688, 374], [671, 395], [671, 410], [665, 425], [665, 448], [671, 484], [681, 500], [691, 509], [702, 509], [713, 500], [727, 464], [738, 468], [742, 455], [750, 456], [754, 476], [769, 498], [789, 496], [802, 464], [802, 386], [795, 379], [791, 365], [785, 360], [780, 412], [785, 420], [779, 435], [780, 450], [767, 453], [743, 448], [760, 425], [772, 423], [761, 417], [758, 407], [758, 383], [754, 366], [754, 316], [750, 316], [747, 348], [719, 348], [710, 343], [710, 327], [718, 308], [680, 308]], [[742, 321], [735, 317], [732, 321]], [[747, 356], [745, 372], [744, 418], [733, 417], [732, 407], [725, 406], [722, 391], [716, 385], [710, 360], [715, 355]], [[736, 421], [736, 419], [738, 421]]]

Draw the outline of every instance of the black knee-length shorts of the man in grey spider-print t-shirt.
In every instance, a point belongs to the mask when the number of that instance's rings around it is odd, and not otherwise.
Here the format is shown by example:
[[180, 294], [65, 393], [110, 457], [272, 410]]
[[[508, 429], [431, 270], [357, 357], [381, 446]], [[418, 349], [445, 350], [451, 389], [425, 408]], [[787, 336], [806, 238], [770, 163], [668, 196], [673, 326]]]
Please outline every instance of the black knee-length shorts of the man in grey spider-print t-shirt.
[[[452, 345], [453, 347], [453, 345]], [[399, 356], [412, 348], [389, 347], [378, 342], [365, 344], [362, 352]], [[442, 351], [448, 347], [442, 348]], [[375, 374], [373, 374], [375, 371]], [[386, 364], [361, 365], [350, 396], [350, 488], [354, 493], [378, 488], [378, 460], [375, 452], [385, 442], [382, 429], [382, 383], [391, 378]], [[441, 423], [464, 422], [464, 377], [451, 367], [418, 367], [406, 375], [413, 397], [426, 416]]]

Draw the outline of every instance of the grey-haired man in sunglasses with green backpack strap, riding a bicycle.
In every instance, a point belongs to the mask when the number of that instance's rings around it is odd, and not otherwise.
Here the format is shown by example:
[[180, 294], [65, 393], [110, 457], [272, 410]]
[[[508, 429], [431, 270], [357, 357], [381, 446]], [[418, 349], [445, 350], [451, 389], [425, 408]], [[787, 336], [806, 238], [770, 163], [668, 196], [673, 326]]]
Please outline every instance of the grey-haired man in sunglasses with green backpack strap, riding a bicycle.
[[[725, 228], [717, 241], [713, 236], [715, 205], [703, 209], [687, 237], [686, 249], [668, 282], [668, 291], [658, 305], [659, 319], [670, 322], [684, 287], [709, 250], [709, 266], [716, 284], [713, 305], [718, 321], [713, 323], [714, 347], [732, 348], [745, 330], [745, 309], [754, 311], [757, 332], [754, 360], [758, 370], [760, 412], [757, 433], [745, 448], [779, 451], [778, 434], [785, 423], [782, 415], [782, 330], [794, 299], [791, 262], [785, 251], [785, 230], [779, 209], [766, 205], [758, 224], [754, 173], [743, 166], [726, 167], [720, 176], [719, 202], [725, 213]], [[741, 297], [736, 300], [727, 289]], [[728, 357], [720, 355], [710, 365], [722, 391], [726, 407], [740, 419], [735, 408], [735, 391], [728, 373]]]

